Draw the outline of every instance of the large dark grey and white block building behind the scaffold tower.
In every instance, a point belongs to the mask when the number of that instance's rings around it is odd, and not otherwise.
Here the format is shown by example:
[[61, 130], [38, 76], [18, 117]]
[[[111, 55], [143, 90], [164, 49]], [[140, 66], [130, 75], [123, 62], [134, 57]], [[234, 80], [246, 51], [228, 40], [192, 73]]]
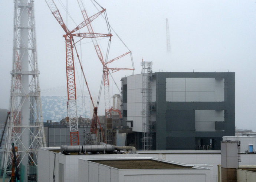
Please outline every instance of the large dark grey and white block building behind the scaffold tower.
[[[142, 74], [121, 81], [122, 125], [141, 149]], [[222, 137], [234, 135], [234, 72], [156, 72], [151, 89], [154, 150], [220, 150]]]

